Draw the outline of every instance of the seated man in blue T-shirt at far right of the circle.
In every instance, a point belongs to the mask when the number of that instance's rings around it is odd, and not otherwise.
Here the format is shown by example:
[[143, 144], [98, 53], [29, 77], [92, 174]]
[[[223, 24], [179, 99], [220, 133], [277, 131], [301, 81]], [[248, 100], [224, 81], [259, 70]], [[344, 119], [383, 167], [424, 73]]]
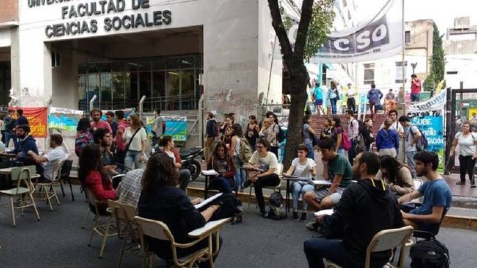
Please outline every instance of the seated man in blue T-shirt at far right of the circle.
[[405, 203], [424, 196], [421, 206], [402, 212], [404, 224], [417, 230], [430, 231], [440, 224], [442, 215], [451, 207], [452, 193], [449, 185], [437, 173], [439, 157], [430, 151], [420, 151], [414, 156], [417, 176], [426, 176], [427, 180], [417, 192], [405, 194], [399, 198], [399, 203]]

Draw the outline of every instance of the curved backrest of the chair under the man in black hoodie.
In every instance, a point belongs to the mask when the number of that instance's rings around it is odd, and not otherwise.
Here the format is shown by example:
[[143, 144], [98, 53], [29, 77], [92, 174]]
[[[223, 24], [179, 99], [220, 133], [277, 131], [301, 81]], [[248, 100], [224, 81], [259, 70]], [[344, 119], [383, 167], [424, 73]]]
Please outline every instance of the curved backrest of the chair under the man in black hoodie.
[[365, 267], [369, 267], [371, 262], [371, 253], [378, 251], [391, 251], [397, 247], [403, 246], [408, 242], [409, 238], [412, 236], [414, 228], [412, 226], [404, 226], [397, 229], [387, 229], [380, 231], [374, 235], [366, 251], [366, 264]]

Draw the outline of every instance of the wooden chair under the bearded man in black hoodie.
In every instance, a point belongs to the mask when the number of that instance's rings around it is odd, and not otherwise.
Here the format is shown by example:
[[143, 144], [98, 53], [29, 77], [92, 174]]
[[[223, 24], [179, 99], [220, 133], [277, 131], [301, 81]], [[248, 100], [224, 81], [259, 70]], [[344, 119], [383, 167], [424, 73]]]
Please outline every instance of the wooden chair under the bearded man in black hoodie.
[[[366, 251], [365, 268], [371, 267], [371, 253], [378, 251], [390, 251], [392, 253], [396, 248], [400, 249], [398, 267], [403, 268], [405, 247], [408, 246], [409, 238], [412, 236], [413, 231], [414, 228], [412, 228], [412, 226], [404, 226], [402, 228], [387, 229], [376, 233], [371, 242], [369, 242]], [[393, 256], [391, 256], [390, 260], [392, 258]], [[395, 268], [389, 262], [384, 267]], [[341, 268], [341, 266], [326, 260], [326, 268]]]

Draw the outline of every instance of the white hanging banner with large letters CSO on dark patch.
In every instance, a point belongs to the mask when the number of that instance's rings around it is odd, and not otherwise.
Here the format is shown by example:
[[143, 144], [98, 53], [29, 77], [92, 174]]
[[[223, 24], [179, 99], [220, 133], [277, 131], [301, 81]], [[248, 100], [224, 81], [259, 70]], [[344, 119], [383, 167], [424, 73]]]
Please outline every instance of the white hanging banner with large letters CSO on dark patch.
[[400, 0], [388, 0], [374, 19], [330, 33], [313, 60], [344, 63], [396, 55], [403, 47], [402, 9]]

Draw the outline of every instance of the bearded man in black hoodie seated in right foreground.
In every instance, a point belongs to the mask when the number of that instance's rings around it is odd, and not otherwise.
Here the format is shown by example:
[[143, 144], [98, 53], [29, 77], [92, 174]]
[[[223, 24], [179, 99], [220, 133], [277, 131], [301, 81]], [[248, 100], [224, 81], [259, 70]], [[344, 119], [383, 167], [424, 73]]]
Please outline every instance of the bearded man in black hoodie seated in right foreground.
[[[353, 165], [358, 178], [344, 190], [333, 215], [318, 218], [326, 233], [340, 235], [342, 240], [310, 238], [304, 243], [309, 267], [325, 267], [323, 258], [341, 267], [363, 267], [369, 242], [376, 233], [404, 225], [394, 194], [382, 180], [376, 180], [380, 168], [375, 153], [359, 153]], [[390, 251], [371, 253], [371, 267], [383, 267], [390, 260]]]

